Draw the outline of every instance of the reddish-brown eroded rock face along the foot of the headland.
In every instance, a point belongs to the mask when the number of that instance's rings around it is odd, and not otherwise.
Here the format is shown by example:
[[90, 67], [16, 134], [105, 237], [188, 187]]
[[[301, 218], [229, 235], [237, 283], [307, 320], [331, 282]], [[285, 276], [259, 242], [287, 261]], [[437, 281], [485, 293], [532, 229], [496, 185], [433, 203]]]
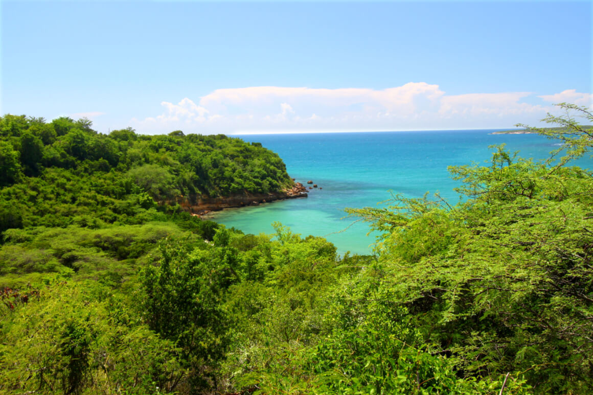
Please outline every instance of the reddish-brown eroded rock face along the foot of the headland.
[[291, 189], [274, 193], [244, 193], [241, 195], [225, 196], [222, 198], [202, 198], [191, 202], [181, 196], [178, 203], [186, 211], [195, 215], [204, 215], [211, 211], [218, 211], [231, 207], [244, 207], [273, 202], [274, 200], [307, 198], [307, 188], [301, 183], [295, 183]]

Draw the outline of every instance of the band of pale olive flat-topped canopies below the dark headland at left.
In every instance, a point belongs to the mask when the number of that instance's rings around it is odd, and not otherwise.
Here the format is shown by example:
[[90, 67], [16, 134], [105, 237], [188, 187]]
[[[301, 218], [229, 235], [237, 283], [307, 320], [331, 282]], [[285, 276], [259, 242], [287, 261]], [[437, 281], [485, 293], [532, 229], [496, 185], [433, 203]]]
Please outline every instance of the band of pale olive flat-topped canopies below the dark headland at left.
[[23, 286], [26, 273], [63, 273], [76, 279], [119, 273], [132, 275], [157, 243], [168, 235], [184, 234], [174, 224], [114, 225], [101, 229], [11, 229], [0, 249], [0, 286]]

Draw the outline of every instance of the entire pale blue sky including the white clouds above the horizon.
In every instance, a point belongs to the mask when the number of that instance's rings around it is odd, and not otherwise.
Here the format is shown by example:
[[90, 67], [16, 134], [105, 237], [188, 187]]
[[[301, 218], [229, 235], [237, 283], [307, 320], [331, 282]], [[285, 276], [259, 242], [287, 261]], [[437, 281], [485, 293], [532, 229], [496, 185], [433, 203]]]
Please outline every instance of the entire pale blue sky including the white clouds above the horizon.
[[592, 4], [0, 0], [0, 114], [145, 134], [541, 126], [592, 105]]

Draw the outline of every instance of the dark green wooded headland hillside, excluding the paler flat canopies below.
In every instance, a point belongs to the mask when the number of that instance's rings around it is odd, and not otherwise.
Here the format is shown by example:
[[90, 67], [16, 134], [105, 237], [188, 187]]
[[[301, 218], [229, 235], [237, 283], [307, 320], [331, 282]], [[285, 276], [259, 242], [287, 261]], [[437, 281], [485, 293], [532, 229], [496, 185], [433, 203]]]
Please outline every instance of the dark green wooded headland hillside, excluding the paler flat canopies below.
[[[292, 186], [278, 155], [224, 135], [102, 135], [88, 120], [0, 118], [0, 231], [97, 220], [129, 222], [132, 206]], [[149, 199], [152, 198], [152, 199]], [[127, 202], [127, 203], [126, 203]]]

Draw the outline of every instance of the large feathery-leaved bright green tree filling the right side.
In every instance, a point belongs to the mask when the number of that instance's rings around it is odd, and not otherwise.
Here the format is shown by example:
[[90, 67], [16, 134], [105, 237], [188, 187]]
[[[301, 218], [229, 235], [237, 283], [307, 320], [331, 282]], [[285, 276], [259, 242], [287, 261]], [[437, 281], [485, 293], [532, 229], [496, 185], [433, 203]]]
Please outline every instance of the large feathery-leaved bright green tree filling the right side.
[[559, 161], [497, 147], [489, 166], [450, 168], [468, 197], [457, 206], [396, 196], [388, 209], [350, 211], [383, 232], [379, 288], [409, 309], [409, 322], [460, 377], [511, 372], [536, 393], [593, 388], [593, 180], [566, 167], [591, 137], [570, 119], [560, 123], [561, 132], [544, 133], [565, 141]]

